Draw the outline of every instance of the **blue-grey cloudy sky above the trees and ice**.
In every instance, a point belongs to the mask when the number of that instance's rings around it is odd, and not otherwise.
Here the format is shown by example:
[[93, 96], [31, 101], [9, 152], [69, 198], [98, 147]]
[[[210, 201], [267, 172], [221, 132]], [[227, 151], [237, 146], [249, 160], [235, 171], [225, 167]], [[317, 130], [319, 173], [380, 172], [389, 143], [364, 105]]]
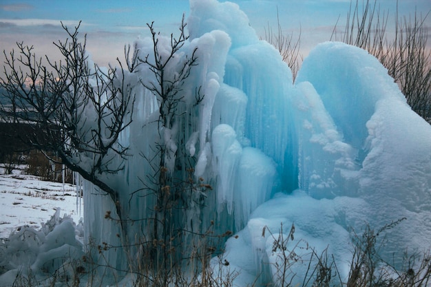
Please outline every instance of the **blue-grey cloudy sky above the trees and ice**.
[[[359, 0], [361, 3], [363, 0]], [[317, 43], [328, 41], [337, 23], [342, 30], [350, 0], [233, 0], [248, 15], [250, 24], [264, 37], [268, 26], [276, 28], [277, 10], [283, 32], [297, 39], [306, 56]], [[396, 0], [378, 0], [382, 11], [395, 19]], [[426, 14], [430, 0], [399, 0], [399, 14], [408, 17]], [[69, 27], [81, 22], [81, 35], [87, 34], [87, 50], [99, 65], [123, 57], [126, 44], [148, 36], [146, 23], [154, 21], [163, 34], [176, 33], [182, 14], [189, 13], [188, 0], [0, 0], [0, 48], [10, 52], [17, 42], [34, 45], [37, 55], [54, 59], [52, 44], [65, 39], [61, 21]], [[431, 27], [431, 15], [426, 19]], [[388, 27], [390, 30], [390, 27]], [[3, 63], [4, 56], [0, 55]]]

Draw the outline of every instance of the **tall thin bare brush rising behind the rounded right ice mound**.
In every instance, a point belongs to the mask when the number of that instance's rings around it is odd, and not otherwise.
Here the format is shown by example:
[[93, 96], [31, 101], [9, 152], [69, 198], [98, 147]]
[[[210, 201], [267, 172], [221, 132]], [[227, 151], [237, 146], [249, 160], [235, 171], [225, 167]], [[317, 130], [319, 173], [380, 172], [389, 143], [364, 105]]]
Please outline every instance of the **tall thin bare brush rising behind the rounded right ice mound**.
[[367, 50], [388, 69], [388, 74], [398, 83], [407, 103], [422, 118], [431, 123], [431, 49], [427, 45], [428, 27], [425, 15], [415, 12], [409, 17], [399, 17], [398, 1], [395, 14], [395, 34], [386, 30], [390, 16], [381, 12], [377, 0], [350, 2], [346, 26], [341, 35], [337, 27], [331, 40], [342, 41]]

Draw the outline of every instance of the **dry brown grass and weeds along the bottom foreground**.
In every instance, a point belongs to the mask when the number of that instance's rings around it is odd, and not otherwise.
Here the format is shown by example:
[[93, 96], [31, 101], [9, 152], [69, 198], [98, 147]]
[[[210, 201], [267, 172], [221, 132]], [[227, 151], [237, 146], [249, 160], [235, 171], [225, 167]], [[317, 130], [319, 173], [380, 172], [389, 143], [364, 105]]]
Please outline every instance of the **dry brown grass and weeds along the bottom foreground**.
[[[310, 253], [307, 259], [298, 255], [297, 248], [301, 248], [294, 242], [295, 226], [292, 225], [288, 233], [284, 233], [283, 226], [280, 233], [273, 235], [266, 227], [262, 235], [269, 233], [273, 240], [273, 253], [277, 255], [277, 260], [271, 264], [276, 264], [273, 280], [266, 282], [265, 286], [287, 287], [293, 286], [296, 264], [306, 264], [307, 270], [304, 278], [299, 278], [302, 284], [296, 287], [426, 287], [431, 284], [431, 254], [427, 251], [423, 254], [408, 255], [403, 254], [402, 263], [397, 268], [395, 264], [386, 262], [380, 256], [381, 248], [386, 244], [386, 231], [395, 228], [404, 219], [390, 222], [386, 226], [377, 230], [366, 226], [361, 233], [353, 232], [353, 251], [350, 259], [350, 272], [346, 279], [342, 279], [337, 270], [337, 262], [332, 255], [328, 255], [326, 248], [322, 253], [317, 253], [315, 249], [309, 247]], [[141, 242], [143, 244], [136, 266], [130, 266], [129, 270], [116, 270], [123, 275], [129, 276], [132, 286], [136, 287], [231, 287], [234, 285], [235, 278], [240, 274], [238, 270], [226, 273], [225, 266], [229, 265], [224, 259], [221, 251], [215, 255], [210, 242], [204, 235], [201, 240], [192, 244], [194, 250], [192, 256], [184, 259], [182, 266], [169, 266], [165, 269], [164, 265], [154, 265], [151, 262], [152, 242]], [[304, 242], [300, 240], [299, 242]], [[145, 246], [145, 245], [148, 246]], [[149, 248], [150, 247], [150, 248]], [[107, 243], [96, 245], [91, 243], [90, 251], [96, 251], [98, 255], [104, 256], [109, 248], [115, 248]], [[145, 252], [147, 250], [147, 252]], [[215, 257], [214, 257], [215, 256]], [[163, 255], [163, 257], [165, 257]], [[210, 264], [211, 258], [216, 258], [218, 264]], [[213, 259], [214, 260], [214, 259]], [[160, 262], [159, 262], [160, 263]], [[64, 264], [54, 274], [40, 279], [36, 278], [31, 270], [17, 274], [13, 286], [106, 286], [104, 279], [109, 279], [110, 284], [122, 286], [121, 277], [105, 277], [106, 270], [114, 267], [109, 264], [101, 265], [96, 262], [91, 252], [79, 260], [65, 258]], [[102, 270], [102, 271], [101, 271]], [[103, 271], [105, 270], [105, 271]], [[298, 278], [295, 277], [295, 280]], [[257, 282], [257, 280], [256, 280]], [[250, 287], [261, 286], [257, 283]]]

